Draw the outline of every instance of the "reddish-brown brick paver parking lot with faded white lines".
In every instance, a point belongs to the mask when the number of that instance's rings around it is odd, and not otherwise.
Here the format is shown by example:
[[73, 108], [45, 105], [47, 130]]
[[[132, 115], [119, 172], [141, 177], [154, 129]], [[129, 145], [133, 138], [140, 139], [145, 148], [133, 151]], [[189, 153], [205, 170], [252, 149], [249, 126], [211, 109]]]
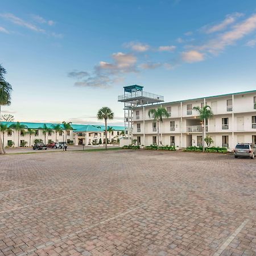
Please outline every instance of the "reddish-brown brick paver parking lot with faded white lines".
[[256, 160], [0, 156], [0, 255], [256, 255]]

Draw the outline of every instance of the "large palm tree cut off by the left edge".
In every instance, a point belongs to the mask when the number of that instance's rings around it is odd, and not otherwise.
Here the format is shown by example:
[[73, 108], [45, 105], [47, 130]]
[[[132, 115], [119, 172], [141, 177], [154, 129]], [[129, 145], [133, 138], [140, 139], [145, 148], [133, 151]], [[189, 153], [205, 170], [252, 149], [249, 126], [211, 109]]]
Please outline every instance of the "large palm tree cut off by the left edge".
[[[0, 123], [1, 123], [1, 106], [11, 104], [11, 85], [5, 80], [6, 70], [0, 64]], [[1, 128], [0, 128], [1, 134]], [[2, 139], [0, 136], [0, 154], [5, 154], [5, 148], [3, 147]]]

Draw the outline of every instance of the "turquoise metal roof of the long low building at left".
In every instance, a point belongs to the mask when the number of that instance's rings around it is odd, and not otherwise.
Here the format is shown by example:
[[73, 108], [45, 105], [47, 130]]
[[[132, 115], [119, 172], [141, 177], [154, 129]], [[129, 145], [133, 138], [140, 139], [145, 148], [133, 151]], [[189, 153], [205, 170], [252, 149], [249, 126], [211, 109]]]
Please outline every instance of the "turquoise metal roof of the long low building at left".
[[[7, 124], [8, 126], [12, 125], [13, 123], [16, 122], [1, 122], [3, 124]], [[60, 125], [62, 129], [64, 129], [64, 126], [62, 123], [29, 123], [29, 122], [20, 122], [21, 125], [27, 126], [27, 128], [31, 129], [43, 129], [43, 125], [46, 124], [48, 128], [52, 128], [55, 125]], [[75, 132], [81, 132], [81, 131], [104, 131], [105, 126], [104, 125], [76, 125], [76, 124], [71, 124], [73, 131]], [[108, 126], [113, 127], [115, 131], [124, 131], [125, 127], [124, 126]]]

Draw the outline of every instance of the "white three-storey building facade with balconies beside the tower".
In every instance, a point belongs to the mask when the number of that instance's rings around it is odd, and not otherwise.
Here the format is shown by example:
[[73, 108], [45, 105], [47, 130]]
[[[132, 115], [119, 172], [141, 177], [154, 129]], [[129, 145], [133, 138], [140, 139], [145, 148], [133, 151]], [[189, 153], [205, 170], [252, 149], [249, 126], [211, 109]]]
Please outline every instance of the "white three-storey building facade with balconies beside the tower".
[[211, 146], [233, 150], [237, 143], [256, 143], [256, 90], [191, 100], [164, 102], [133, 108], [133, 139], [138, 144], [156, 144], [157, 129], [148, 110], [163, 107], [170, 117], [160, 123], [160, 141], [176, 147], [201, 146], [203, 127], [193, 107], [209, 105], [213, 117], [205, 121]]

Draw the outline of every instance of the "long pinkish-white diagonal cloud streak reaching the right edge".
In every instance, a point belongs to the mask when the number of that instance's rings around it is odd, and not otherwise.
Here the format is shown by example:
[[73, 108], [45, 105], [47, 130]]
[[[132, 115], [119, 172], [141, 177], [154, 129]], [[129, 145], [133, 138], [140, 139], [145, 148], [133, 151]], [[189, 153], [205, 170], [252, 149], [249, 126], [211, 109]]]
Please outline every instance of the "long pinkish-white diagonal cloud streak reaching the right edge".
[[197, 47], [201, 51], [208, 51], [213, 54], [218, 54], [224, 50], [225, 47], [236, 43], [237, 40], [242, 39], [256, 29], [256, 14], [251, 15], [243, 22], [236, 24], [231, 30], [219, 34], [217, 38], [209, 40], [207, 43]]

